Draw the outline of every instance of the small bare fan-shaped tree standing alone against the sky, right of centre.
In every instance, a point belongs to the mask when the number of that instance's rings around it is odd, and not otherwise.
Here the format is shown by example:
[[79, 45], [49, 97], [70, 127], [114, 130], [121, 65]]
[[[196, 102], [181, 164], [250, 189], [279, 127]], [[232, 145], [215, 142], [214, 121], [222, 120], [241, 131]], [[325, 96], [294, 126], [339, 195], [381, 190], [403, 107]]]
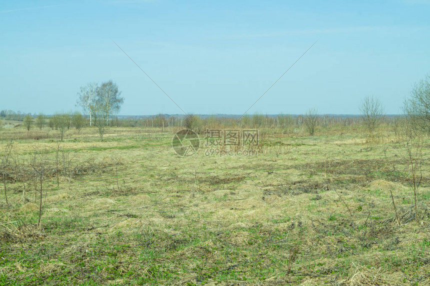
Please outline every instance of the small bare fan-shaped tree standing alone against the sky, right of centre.
[[361, 120], [367, 129], [367, 134], [372, 136], [383, 116], [382, 104], [379, 99], [373, 96], [366, 96], [361, 102], [360, 111]]

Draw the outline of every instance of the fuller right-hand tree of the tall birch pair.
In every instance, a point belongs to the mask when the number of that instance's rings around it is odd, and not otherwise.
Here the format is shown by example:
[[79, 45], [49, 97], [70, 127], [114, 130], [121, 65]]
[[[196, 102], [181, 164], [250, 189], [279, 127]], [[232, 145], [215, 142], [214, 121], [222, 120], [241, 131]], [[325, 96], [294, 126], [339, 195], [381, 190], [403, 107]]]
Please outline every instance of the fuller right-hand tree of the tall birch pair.
[[120, 95], [121, 92], [118, 91], [118, 86], [112, 80], [103, 82], [97, 88], [91, 111], [101, 141], [103, 141], [104, 128], [109, 124], [109, 116], [118, 112], [124, 101], [124, 98], [120, 97]]

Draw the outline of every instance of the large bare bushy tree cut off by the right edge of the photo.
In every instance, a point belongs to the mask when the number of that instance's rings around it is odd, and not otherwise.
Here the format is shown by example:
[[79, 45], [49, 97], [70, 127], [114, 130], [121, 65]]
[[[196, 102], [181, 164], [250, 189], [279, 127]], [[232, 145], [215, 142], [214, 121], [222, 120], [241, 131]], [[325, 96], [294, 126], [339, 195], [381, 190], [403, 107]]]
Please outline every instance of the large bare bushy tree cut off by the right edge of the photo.
[[404, 113], [413, 128], [430, 133], [430, 75], [416, 82], [410, 95], [404, 101]]

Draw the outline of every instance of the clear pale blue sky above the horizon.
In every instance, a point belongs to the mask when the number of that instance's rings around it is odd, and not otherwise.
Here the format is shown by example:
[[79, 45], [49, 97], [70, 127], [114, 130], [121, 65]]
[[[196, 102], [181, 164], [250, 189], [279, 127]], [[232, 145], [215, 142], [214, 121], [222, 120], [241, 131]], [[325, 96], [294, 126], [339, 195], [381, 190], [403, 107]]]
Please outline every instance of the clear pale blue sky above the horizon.
[[430, 72], [429, 14], [430, 0], [2, 0], [0, 109], [82, 110], [80, 86], [111, 79], [121, 115], [243, 114], [316, 41], [248, 114], [359, 114], [366, 96], [401, 113]]

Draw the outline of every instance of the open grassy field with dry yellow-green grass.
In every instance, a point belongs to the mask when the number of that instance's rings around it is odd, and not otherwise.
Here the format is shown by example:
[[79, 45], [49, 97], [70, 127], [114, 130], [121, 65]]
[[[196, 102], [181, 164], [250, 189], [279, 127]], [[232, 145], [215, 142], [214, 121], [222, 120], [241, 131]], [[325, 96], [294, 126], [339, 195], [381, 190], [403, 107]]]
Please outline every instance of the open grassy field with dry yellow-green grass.
[[178, 130], [0, 130], [0, 285], [430, 284], [428, 138], [263, 129], [257, 156], [180, 157]]

